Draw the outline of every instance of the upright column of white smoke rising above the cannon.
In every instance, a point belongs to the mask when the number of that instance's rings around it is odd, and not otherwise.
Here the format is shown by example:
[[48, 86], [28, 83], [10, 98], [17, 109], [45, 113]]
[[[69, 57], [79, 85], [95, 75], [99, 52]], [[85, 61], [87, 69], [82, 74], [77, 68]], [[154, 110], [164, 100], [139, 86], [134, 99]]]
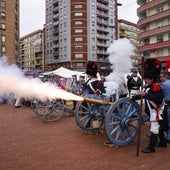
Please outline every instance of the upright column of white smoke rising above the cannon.
[[112, 73], [106, 77], [104, 83], [106, 87], [106, 95], [121, 93], [120, 86], [126, 84], [126, 76], [132, 68], [131, 56], [134, 53], [134, 46], [130, 40], [126, 38], [118, 39], [110, 45], [107, 52], [109, 53], [109, 61]]

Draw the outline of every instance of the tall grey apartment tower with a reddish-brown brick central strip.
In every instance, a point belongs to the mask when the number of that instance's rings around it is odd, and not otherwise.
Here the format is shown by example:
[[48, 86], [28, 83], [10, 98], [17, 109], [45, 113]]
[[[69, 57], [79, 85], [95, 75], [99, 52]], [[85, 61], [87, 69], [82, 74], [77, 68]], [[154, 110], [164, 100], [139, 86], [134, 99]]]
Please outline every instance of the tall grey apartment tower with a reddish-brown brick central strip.
[[115, 39], [115, 0], [46, 0], [46, 69], [85, 70], [89, 60], [110, 69], [107, 48]]

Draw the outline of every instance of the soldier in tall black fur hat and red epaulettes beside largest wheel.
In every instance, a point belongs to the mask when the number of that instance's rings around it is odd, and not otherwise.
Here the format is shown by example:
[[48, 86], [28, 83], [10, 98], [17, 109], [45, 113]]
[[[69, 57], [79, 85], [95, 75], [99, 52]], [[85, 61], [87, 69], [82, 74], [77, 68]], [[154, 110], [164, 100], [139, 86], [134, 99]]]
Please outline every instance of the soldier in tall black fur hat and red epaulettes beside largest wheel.
[[157, 83], [160, 70], [159, 60], [146, 60], [143, 75], [146, 87], [139, 95], [131, 97], [136, 100], [142, 96], [145, 99], [145, 112], [150, 117], [150, 142], [143, 150], [143, 153], [155, 152], [156, 145], [159, 147], [167, 147], [164, 130], [162, 129], [163, 113], [161, 112], [164, 94], [161, 86]]

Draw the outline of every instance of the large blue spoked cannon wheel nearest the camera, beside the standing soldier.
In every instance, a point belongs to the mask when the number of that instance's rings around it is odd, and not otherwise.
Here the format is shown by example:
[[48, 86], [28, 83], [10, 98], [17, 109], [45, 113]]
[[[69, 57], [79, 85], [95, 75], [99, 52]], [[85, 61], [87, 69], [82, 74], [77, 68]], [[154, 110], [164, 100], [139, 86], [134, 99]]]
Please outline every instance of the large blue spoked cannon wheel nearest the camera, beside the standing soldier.
[[105, 130], [108, 139], [116, 146], [131, 143], [139, 130], [140, 107], [137, 102], [122, 98], [107, 111]]

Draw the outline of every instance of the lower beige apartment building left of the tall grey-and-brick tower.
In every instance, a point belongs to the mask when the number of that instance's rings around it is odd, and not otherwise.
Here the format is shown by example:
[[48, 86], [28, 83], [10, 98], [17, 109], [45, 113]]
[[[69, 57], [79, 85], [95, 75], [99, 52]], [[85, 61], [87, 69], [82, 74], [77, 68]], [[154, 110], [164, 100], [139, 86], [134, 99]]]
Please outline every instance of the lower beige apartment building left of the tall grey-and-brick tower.
[[44, 30], [20, 38], [19, 67], [30, 73], [44, 71]]

